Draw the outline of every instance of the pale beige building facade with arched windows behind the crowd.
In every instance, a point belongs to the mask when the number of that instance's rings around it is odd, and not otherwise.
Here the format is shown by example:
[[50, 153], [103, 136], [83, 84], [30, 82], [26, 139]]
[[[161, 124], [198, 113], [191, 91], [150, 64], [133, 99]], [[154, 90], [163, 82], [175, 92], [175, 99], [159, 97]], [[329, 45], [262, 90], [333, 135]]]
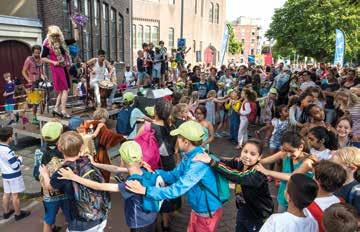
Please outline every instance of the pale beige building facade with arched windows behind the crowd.
[[[218, 65], [223, 39], [226, 0], [183, 0], [183, 37], [188, 63]], [[141, 49], [142, 43], [160, 40], [165, 42], [168, 52], [177, 48], [181, 30], [181, 0], [134, 0], [132, 42], [133, 54]]]

